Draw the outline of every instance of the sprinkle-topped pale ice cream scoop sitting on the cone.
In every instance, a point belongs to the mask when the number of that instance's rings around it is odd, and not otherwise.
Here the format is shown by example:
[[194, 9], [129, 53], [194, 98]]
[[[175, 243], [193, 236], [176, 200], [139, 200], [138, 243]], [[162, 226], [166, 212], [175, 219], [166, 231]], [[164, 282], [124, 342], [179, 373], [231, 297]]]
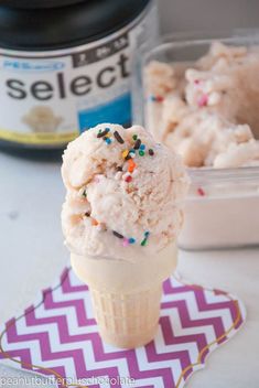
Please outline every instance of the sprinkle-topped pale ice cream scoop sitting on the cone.
[[71, 142], [62, 225], [82, 256], [134, 260], [174, 240], [188, 180], [179, 157], [139, 126], [99, 125]]

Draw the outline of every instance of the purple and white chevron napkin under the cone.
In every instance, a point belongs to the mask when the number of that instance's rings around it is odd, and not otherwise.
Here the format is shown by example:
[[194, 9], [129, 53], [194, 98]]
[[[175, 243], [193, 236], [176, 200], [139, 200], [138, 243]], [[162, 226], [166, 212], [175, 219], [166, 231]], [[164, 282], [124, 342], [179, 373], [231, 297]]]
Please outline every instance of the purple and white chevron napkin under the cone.
[[[88, 289], [66, 268], [54, 288], [2, 327], [0, 359], [58, 387], [180, 388], [245, 322], [241, 301], [171, 278], [153, 342], [122, 351], [101, 342]], [[144, 312], [143, 312], [144, 313]]]

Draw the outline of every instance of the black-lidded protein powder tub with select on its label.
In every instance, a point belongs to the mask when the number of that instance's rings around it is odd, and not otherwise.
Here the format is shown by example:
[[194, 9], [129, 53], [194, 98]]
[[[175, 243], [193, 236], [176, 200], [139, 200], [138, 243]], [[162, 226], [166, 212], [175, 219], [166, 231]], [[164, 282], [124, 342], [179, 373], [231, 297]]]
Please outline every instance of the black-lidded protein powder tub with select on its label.
[[157, 33], [152, 0], [1, 1], [1, 144], [63, 148], [98, 122], [129, 126], [132, 56]]

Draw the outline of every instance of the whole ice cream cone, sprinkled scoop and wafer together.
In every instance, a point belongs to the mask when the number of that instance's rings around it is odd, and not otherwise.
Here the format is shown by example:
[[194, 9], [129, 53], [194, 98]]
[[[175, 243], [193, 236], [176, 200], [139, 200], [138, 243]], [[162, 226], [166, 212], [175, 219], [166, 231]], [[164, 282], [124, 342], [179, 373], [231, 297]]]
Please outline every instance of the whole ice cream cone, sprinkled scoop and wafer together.
[[63, 231], [100, 336], [122, 348], [148, 344], [176, 267], [188, 186], [181, 160], [140, 126], [102, 123], [69, 143], [62, 176]]

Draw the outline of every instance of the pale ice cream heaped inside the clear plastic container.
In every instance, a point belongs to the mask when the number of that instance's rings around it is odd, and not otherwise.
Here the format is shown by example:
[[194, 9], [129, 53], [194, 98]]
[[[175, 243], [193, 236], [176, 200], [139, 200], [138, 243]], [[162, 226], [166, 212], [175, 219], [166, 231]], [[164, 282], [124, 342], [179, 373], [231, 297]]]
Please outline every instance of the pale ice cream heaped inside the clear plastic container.
[[259, 165], [259, 50], [214, 42], [192, 64], [150, 62], [145, 122], [187, 166]]

